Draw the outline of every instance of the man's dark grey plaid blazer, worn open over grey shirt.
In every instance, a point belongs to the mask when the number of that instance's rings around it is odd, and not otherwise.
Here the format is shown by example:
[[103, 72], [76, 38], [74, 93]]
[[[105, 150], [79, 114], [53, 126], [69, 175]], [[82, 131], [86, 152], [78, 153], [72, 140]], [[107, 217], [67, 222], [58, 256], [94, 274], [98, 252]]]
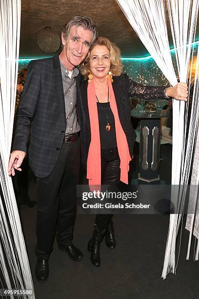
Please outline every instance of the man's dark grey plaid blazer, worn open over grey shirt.
[[[80, 74], [76, 81], [77, 102], [81, 105]], [[31, 61], [18, 110], [13, 150], [27, 152], [29, 141], [29, 165], [37, 177], [46, 177], [55, 167], [65, 130], [59, 56]]]

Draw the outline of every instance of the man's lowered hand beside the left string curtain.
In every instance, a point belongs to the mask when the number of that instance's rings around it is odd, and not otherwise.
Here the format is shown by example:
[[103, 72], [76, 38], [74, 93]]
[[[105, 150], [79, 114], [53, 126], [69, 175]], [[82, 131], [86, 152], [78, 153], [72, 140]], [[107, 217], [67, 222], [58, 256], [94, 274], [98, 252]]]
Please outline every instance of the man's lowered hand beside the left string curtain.
[[15, 169], [21, 171], [21, 164], [23, 159], [25, 158], [25, 151], [22, 150], [14, 150], [11, 153], [10, 161], [8, 164], [8, 175], [15, 175]]

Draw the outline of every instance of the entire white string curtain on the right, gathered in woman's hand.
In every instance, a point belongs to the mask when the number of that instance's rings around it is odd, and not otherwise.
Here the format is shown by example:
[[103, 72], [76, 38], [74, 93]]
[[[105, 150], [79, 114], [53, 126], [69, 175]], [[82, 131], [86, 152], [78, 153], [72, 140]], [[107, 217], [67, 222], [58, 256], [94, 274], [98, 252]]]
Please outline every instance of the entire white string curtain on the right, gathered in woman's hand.
[[[159, 68], [171, 85], [177, 84], [177, 77], [170, 55], [164, 0], [117, 0], [126, 18], [137, 32]], [[181, 82], [187, 82], [188, 66], [193, 52], [192, 42], [195, 40], [199, 0], [167, 0], [170, 26], [176, 49], [178, 76]], [[197, 95], [196, 103], [198, 102]], [[194, 103], [194, 100], [193, 100]], [[198, 109], [198, 104], [194, 106]], [[168, 272], [175, 273], [176, 238], [183, 211], [186, 188], [190, 171], [190, 157], [193, 151], [196, 130], [188, 138], [185, 153], [185, 136], [188, 104], [173, 100], [173, 152], [172, 152], [172, 194], [171, 201], [177, 207], [177, 214], [170, 215], [169, 233], [164, 259], [162, 277]], [[195, 110], [194, 110], [195, 111]], [[198, 110], [197, 110], [198, 113]], [[198, 114], [195, 114], [198, 115]], [[193, 114], [193, 113], [192, 113]], [[186, 116], [186, 117], [184, 117]], [[196, 116], [197, 117], [197, 116]], [[197, 124], [196, 117], [190, 121]], [[194, 124], [195, 121], [195, 124]], [[185, 128], [184, 128], [185, 124]], [[193, 126], [190, 126], [192, 128]]]

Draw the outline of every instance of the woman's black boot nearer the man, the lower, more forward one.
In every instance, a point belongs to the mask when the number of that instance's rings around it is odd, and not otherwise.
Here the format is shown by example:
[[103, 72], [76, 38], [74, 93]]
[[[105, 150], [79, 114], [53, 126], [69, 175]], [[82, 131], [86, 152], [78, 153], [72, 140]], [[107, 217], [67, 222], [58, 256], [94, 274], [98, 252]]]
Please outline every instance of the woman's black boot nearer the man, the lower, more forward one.
[[100, 231], [96, 223], [93, 237], [88, 242], [88, 251], [91, 251], [91, 262], [94, 266], [100, 267], [100, 243], [103, 239], [105, 230]]

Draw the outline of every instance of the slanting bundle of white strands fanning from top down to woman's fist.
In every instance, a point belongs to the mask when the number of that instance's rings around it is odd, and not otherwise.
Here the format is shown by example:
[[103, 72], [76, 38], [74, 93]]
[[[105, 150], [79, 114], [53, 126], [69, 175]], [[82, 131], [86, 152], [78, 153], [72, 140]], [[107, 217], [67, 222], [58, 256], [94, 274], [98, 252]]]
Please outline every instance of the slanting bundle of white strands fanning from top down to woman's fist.
[[169, 48], [164, 1], [117, 0], [117, 2], [167, 80], [171, 85], [176, 85], [178, 81]]

